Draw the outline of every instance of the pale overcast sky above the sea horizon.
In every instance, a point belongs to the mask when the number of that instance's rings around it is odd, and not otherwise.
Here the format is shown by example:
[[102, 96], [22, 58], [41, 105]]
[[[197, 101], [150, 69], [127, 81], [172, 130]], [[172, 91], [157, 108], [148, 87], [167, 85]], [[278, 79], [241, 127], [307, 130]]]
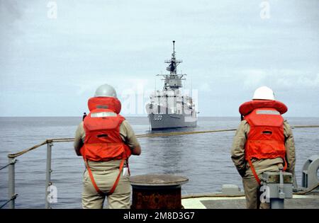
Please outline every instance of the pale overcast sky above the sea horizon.
[[79, 116], [105, 83], [144, 93], [123, 108], [142, 115], [172, 40], [200, 115], [237, 116], [266, 85], [319, 116], [318, 0], [0, 0], [0, 115]]

